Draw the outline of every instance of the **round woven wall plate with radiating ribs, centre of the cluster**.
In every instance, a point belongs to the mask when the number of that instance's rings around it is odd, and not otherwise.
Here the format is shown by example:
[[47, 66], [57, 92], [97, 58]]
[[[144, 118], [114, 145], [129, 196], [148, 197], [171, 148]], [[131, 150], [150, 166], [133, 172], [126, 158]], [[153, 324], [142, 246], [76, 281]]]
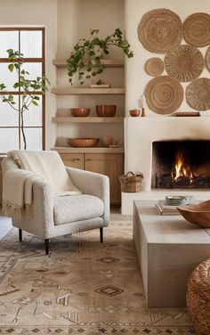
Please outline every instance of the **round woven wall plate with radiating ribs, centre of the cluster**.
[[166, 53], [165, 65], [168, 76], [179, 81], [192, 81], [200, 76], [204, 69], [202, 53], [192, 45], [180, 45]]

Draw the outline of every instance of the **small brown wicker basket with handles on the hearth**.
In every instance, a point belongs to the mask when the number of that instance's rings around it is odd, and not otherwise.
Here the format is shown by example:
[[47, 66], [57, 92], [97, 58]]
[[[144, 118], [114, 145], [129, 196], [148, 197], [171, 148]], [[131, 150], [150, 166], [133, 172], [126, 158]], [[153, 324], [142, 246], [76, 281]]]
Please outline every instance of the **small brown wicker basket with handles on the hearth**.
[[119, 176], [120, 186], [122, 192], [140, 192], [141, 180], [143, 175], [141, 172], [133, 174], [129, 171], [126, 175]]

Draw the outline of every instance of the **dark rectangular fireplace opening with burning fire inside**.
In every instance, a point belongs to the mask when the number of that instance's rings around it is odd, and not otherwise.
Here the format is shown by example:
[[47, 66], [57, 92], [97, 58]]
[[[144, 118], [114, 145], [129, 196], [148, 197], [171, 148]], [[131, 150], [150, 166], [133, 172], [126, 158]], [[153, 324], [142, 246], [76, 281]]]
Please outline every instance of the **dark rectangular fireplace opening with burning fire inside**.
[[210, 188], [210, 141], [153, 142], [151, 188]]

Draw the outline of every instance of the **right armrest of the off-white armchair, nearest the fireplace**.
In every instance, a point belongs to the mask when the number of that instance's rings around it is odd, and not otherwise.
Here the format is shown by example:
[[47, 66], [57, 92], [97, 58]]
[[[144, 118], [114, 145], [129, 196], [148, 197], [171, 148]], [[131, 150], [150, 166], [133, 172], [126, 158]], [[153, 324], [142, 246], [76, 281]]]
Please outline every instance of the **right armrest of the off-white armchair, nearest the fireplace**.
[[105, 221], [109, 222], [109, 176], [95, 172], [66, 167], [67, 172], [77, 188], [85, 194], [95, 195], [104, 203]]

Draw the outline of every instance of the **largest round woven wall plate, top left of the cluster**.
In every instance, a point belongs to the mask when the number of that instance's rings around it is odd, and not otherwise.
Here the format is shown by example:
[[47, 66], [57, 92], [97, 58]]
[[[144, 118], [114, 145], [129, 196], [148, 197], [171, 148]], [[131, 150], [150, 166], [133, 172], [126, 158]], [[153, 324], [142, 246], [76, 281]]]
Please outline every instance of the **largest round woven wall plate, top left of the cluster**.
[[181, 44], [182, 21], [175, 12], [166, 8], [149, 11], [141, 18], [138, 37], [151, 53], [166, 53]]

